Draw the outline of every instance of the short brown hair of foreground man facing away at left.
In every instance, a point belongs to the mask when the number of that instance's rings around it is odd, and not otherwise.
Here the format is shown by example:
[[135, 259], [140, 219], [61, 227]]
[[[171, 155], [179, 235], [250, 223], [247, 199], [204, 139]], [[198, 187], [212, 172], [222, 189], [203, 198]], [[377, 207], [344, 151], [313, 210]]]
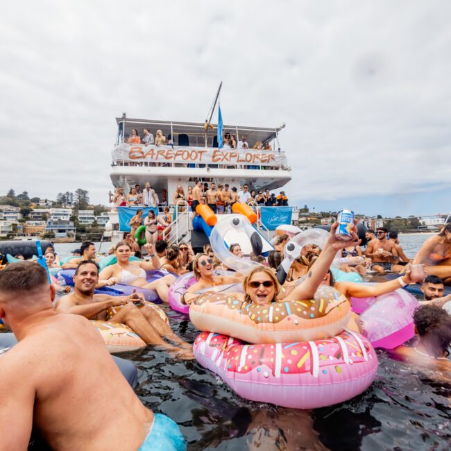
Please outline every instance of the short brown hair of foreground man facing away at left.
[[[10, 263], [0, 271], [0, 291], [28, 293], [44, 286], [49, 287], [47, 271], [34, 262]], [[19, 298], [17, 304], [20, 304]]]

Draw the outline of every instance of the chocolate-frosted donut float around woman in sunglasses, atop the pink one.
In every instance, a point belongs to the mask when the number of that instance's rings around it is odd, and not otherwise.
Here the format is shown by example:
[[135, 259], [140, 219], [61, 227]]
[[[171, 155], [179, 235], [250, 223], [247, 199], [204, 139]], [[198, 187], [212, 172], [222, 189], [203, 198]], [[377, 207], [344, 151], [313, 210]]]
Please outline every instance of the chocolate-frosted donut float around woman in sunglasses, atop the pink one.
[[348, 299], [332, 287], [321, 286], [310, 300], [257, 305], [227, 293], [209, 291], [189, 307], [198, 330], [232, 335], [248, 343], [289, 343], [333, 337], [349, 323]]

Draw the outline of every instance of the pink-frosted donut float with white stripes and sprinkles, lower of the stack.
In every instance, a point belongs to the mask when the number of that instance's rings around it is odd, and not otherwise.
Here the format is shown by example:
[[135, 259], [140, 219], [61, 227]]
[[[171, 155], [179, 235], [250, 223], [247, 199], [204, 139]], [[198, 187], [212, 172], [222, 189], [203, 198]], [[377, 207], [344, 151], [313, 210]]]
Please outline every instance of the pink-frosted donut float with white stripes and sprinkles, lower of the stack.
[[202, 332], [194, 356], [242, 398], [294, 409], [349, 400], [377, 371], [371, 343], [348, 330], [325, 340], [259, 345]]

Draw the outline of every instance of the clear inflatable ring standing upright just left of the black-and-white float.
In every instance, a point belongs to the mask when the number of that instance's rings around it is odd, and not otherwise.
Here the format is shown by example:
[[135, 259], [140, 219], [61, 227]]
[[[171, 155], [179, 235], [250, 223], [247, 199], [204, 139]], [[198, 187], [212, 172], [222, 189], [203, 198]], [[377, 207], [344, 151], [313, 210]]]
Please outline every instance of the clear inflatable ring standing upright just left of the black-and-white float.
[[214, 255], [228, 268], [235, 269], [235, 271], [241, 274], [247, 274], [251, 269], [262, 265], [251, 260], [240, 259], [236, 255], [233, 255], [228, 249], [224, 237], [230, 230], [237, 233], [245, 233], [250, 240], [255, 255], [259, 255], [262, 252], [262, 239], [245, 216], [241, 214], [228, 214], [226, 216], [225, 219], [221, 219], [221, 221], [216, 223], [216, 226], [212, 230], [210, 235], [212, 250]]

